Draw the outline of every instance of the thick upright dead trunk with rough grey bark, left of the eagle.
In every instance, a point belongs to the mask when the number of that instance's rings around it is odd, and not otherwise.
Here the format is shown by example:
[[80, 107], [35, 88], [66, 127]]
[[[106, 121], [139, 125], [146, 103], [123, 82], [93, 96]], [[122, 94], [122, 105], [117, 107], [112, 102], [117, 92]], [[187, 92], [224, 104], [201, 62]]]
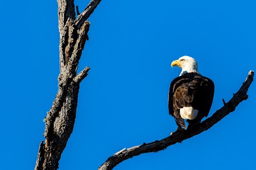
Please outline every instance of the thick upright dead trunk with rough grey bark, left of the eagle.
[[45, 118], [45, 141], [40, 143], [35, 169], [58, 169], [58, 162], [73, 131], [79, 84], [89, 67], [77, 74], [79, 59], [88, 39], [88, 17], [100, 3], [91, 1], [76, 18], [74, 0], [58, 0], [60, 75], [58, 92]]

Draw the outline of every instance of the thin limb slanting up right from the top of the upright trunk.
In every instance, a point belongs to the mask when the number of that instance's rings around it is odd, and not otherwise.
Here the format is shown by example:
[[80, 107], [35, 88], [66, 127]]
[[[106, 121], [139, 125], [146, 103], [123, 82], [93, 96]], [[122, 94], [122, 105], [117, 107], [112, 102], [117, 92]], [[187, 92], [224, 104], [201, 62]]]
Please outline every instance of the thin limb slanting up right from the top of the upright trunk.
[[77, 17], [76, 19], [76, 25], [77, 28], [79, 29], [85, 20], [87, 20], [90, 15], [93, 13], [93, 11], [95, 10], [95, 8], [98, 6], [98, 4], [100, 3], [101, 0], [92, 0], [88, 6], [86, 6], [86, 8], [84, 9], [84, 11]]

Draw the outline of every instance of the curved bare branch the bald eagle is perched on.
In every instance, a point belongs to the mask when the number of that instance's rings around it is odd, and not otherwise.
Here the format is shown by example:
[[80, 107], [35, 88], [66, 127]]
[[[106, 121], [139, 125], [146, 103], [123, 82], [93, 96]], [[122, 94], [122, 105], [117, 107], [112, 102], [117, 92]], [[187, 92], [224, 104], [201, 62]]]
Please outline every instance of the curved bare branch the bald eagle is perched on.
[[164, 150], [170, 145], [181, 143], [185, 139], [191, 138], [196, 134], [200, 134], [201, 132], [210, 129], [214, 124], [218, 123], [222, 118], [234, 111], [239, 103], [248, 99], [247, 91], [253, 81], [253, 76], [254, 72], [250, 71], [243, 85], [236, 92], [236, 94], [234, 94], [232, 99], [230, 99], [228, 103], [225, 103], [225, 106], [223, 106], [220, 110], [217, 110], [211, 117], [204, 120], [204, 122], [201, 124], [195, 125], [195, 127], [192, 127], [184, 132], [174, 132], [172, 136], [168, 136], [160, 141], [154, 141], [147, 144], [143, 143], [142, 145], [134, 146], [132, 148], [128, 148], [127, 150], [120, 150], [113, 156], [109, 157], [108, 160], [106, 160], [106, 162], [99, 167], [99, 170], [113, 169], [113, 167], [126, 159], [140, 155], [141, 153], [158, 152], [160, 150]]

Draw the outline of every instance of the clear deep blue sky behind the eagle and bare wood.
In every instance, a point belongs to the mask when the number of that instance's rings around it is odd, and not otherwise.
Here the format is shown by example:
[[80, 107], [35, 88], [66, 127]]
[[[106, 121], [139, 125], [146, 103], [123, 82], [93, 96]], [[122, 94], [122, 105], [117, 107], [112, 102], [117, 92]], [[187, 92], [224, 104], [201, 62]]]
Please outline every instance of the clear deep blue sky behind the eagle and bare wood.
[[[90, 1], [75, 1], [80, 11]], [[256, 70], [256, 1], [106, 1], [90, 17], [79, 70], [74, 132], [60, 169], [97, 169], [122, 148], [165, 138], [173, 60], [190, 55], [215, 83], [209, 116]], [[33, 169], [43, 119], [58, 90], [56, 1], [1, 3], [1, 169]], [[210, 130], [157, 153], [125, 160], [128, 169], [255, 168], [255, 82], [236, 111]]]

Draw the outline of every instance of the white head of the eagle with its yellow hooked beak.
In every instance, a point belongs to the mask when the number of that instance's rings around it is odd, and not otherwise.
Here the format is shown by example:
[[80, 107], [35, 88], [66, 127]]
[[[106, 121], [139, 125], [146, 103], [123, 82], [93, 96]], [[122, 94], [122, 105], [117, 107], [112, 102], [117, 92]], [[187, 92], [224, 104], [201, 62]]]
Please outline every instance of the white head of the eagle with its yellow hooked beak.
[[178, 66], [182, 69], [180, 76], [186, 73], [198, 73], [198, 66], [196, 60], [187, 55], [180, 57], [179, 60], [174, 60], [171, 66]]

